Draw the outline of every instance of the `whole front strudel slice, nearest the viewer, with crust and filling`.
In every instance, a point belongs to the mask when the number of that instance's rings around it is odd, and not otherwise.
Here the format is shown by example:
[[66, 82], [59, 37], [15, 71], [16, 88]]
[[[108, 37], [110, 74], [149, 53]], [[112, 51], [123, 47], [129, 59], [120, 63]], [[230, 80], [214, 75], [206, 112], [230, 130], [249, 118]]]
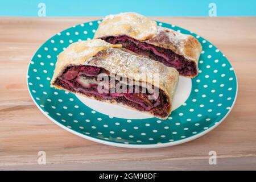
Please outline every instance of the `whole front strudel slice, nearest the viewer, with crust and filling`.
[[[175, 68], [139, 56], [121, 46], [109, 44], [101, 39], [71, 44], [58, 56], [51, 85], [57, 89], [166, 119], [171, 113], [179, 73]], [[144, 73], [147, 73], [147, 76], [140, 77]], [[99, 89], [103, 87], [100, 85], [102, 75], [108, 78], [104, 92]], [[157, 75], [159, 79], [150, 79], [148, 75]], [[123, 78], [117, 79], [119, 77], [132, 80], [133, 84]], [[110, 82], [112, 79], [114, 81]], [[112, 89], [118, 84], [123, 84], [122, 89], [127, 88], [126, 92], [113, 93]], [[130, 88], [133, 92], [130, 92]], [[151, 92], [152, 90], [154, 92]]]

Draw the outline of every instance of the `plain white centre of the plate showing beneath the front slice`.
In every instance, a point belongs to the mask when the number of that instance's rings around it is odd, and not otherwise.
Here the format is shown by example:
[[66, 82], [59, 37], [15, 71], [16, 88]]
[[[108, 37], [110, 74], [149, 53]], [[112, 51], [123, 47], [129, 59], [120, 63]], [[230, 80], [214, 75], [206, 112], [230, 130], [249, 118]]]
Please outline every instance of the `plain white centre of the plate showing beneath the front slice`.
[[[192, 82], [191, 78], [180, 77], [179, 83], [177, 85], [177, 90], [174, 96], [174, 100], [172, 102], [172, 110], [180, 107], [189, 97], [191, 93]], [[140, 113], [136, 110], [127, 109], [125, 107], [121, 107], [118, 105], [109, 104], [106, 102], [100, 102], [96, 100], [92, 100], [90, 98], [77, 96], [79, 100], [84, 103], [86, 106], [91, 109], [98, 111], [102, 114], [109, 115], [110, 117], [115, 118], [125, 118], [125, 119], [146, 119], [152, 118], [151, 115]]]

